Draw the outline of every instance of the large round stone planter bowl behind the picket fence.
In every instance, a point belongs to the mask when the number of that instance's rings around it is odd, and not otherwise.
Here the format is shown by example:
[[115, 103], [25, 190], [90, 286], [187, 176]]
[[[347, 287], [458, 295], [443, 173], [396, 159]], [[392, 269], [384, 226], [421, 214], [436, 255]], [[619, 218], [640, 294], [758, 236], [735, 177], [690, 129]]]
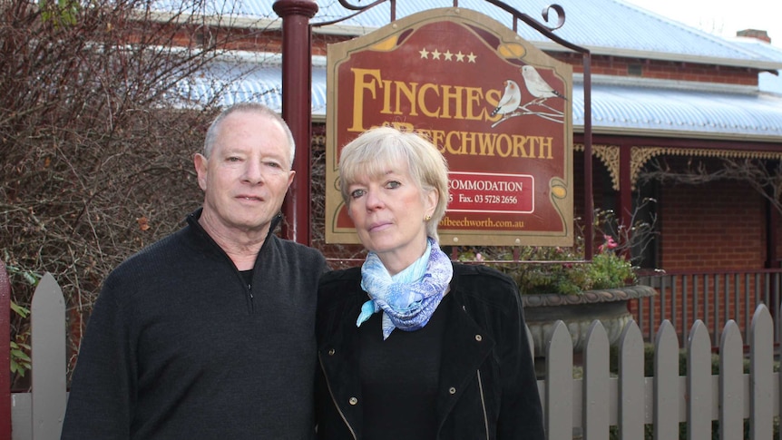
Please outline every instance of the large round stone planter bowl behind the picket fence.
[[628, 301], [654, 295], [657, 295], [657, 290], [649, 286], [587, 290], [581, 295], [522, 295], [524, 320], [533, 335], [535, 357], [545, 356], [546, 338], [558, 319], [570, 331], [574, 353], [582, 352], [587, 331], [595, 319], [600, 319], [609, 344], [614, 346], [624, 326], [632, 319], [627, 308]]

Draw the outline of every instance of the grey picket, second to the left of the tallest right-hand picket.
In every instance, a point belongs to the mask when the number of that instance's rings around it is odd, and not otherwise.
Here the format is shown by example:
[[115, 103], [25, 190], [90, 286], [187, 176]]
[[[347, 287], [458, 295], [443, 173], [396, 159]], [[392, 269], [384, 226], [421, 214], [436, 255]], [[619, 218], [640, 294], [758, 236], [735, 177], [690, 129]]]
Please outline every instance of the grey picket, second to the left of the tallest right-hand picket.
[[687, 339], [687, 438], [711, 438], [711, 338], [698, 319]]

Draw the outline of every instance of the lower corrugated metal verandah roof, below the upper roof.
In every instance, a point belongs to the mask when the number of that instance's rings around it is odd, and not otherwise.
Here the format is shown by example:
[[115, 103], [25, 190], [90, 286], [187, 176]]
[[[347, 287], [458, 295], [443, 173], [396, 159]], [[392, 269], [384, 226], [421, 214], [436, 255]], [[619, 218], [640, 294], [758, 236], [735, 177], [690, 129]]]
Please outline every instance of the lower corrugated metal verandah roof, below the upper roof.
[[[239, 73], [242, 75], [239, 80], [224, 80]], [[601, 78], [593, 79], [592, 131], [782, 142], [782, 95], [753, 93], [752, 89], [741, 87], [713, 92], [702, 90], [702, 85], [696, 83], [691, 87], [676, 83], [676, 88], [665, 84], [663, 81], [601, 83]], [[248, 63], [215, 64], [209, 74], [202, 75], [182, 92], [188, 99], [205, 102], [214, 96], [213, 91], [218, 87], [226, 87], [225, 105], [258, 101], [278, 112], [282, 110], [279, 63], [269, 62], [260, 67]], [[572, 96], [572, 122], [579, 129], [584, 123], [582, 83], [573, 84]], [[326, 67], [320, 58], [312, 73], [312, 114], [321, 121], [326, 116]]]

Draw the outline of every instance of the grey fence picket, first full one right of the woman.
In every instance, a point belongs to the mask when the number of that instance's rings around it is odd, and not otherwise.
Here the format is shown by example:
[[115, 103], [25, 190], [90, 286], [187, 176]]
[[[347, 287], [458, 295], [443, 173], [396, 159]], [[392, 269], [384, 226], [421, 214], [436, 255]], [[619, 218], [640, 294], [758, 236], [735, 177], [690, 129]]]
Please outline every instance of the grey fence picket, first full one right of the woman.
[[573, 435], [573, 343], [567, 326], [554, 323], [546, 347], [546, 433], [551, 439]]

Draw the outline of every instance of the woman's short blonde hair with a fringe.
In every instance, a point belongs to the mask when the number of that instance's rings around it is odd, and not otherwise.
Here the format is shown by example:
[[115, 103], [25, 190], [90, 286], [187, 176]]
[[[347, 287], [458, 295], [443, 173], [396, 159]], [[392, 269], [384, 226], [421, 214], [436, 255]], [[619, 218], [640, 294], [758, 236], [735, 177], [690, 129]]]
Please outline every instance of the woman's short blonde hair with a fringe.
[[448, 205], [448, 163], [434, 143], [417, 132], [403, 132], [392, 127], [377, 127], [359, 135], [342, 149], [339, 156], [339, 190], [350, 205], [348, 188], [359, 177], [375, 178], [388, 171], [389, 164], [407, 165], [407, 171], [421, 191], [437, 191], [438, 199], [432, 218], [426, 220], [426, 235], [435, 240], [437, 224]]

